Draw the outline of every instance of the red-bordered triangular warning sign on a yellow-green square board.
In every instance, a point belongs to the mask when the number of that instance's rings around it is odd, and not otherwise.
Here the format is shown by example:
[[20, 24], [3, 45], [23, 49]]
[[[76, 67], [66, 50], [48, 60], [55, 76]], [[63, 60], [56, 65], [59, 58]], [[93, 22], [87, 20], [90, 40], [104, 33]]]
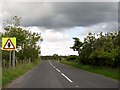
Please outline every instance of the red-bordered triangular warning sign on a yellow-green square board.
[[3, 50], [15, 50], [16, 49], [16, 38], [2, 38], [2, 49]]

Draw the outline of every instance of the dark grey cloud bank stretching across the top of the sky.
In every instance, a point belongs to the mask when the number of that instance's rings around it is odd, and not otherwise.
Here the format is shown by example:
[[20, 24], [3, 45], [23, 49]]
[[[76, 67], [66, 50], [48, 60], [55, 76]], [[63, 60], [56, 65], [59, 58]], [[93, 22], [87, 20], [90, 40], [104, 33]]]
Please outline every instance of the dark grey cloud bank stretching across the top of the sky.
[[118, 19], [117, 2], [15, 3], [8, 4], [6, 10], [21, 16], [23, 26], [49, 29], [88, 27]]

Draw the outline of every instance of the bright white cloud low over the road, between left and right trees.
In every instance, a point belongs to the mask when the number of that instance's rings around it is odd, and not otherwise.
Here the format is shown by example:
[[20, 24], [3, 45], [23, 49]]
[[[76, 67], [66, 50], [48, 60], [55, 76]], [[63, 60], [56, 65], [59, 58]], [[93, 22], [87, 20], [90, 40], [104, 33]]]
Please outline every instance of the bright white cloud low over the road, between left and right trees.
[[38, 45], [41, 46], [42, 55], [78, 55], [77, 52], [70, 49], [74, 41], [69, 34], [37, 26], [27, 27], [27, 29], [32, 32], [41, 33], [43, 42], [38, 42]]

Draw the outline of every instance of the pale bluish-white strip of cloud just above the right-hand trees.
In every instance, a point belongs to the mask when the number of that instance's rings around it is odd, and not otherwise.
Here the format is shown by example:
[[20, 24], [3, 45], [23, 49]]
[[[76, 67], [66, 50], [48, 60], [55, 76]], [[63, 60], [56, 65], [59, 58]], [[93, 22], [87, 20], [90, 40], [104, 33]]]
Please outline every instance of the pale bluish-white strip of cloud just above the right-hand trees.
[[[70, 35], [72, 37], [78, 37], [80, 41], [84, 41], [84, 38], [89, 32], [93, 34], [99, 34], [100, 32], [115, 32], [118, 31], [118, 22], [100, 23], [90, 27], [74, 27], [70, 29]], [[68, 32], [68, 30], [67, 30]]]

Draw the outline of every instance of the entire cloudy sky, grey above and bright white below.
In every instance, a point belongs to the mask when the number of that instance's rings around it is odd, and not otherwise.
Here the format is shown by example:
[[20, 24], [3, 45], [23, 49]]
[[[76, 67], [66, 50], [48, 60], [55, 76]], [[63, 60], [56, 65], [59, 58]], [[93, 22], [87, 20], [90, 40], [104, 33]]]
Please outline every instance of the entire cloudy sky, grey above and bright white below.
[[42, 55], [77, 55], [70, 49], [73, 37], [83, 41], [89, 32], [118, 28], [117, 2], [5, 2], [1, 10], [0, 21], [21, 16], [22, 27], [41, 33]]

